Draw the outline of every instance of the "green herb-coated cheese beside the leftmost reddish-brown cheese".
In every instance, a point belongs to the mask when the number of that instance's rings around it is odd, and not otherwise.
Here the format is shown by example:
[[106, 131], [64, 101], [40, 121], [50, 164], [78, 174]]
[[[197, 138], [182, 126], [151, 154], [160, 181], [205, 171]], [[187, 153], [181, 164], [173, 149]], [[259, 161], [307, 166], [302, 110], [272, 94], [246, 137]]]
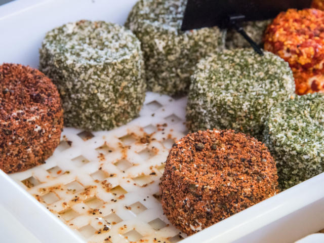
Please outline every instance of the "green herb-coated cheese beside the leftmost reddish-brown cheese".
[[138, 116], [145, 98], [140, 42], [123, 26], [81, 20], [49, 31], [39, 68], [58, 87], [64, 124], [109, 130]]

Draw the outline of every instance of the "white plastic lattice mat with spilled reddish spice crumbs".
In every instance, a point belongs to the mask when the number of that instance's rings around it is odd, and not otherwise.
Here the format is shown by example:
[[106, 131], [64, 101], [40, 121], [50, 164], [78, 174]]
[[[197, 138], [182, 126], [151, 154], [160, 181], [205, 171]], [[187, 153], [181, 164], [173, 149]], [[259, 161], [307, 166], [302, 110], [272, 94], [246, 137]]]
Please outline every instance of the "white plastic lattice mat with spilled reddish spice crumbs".
[[177, 242], [158, 184], [186, 134], [186, 98], [148, 92], [140, 117], [112, 131], [65, 128], [47, 163], [11, 175], [88, 242]]

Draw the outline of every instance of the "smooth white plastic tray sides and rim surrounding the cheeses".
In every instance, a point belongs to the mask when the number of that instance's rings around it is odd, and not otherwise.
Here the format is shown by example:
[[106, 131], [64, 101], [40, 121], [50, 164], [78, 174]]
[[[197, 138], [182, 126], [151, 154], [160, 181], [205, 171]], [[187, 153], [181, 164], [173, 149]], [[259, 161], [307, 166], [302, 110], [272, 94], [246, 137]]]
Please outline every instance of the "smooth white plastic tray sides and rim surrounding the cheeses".
[[[38, 66], [46, 31], [79, 19], [123, 24], [136, 0], [17, 0], [0, 7], [0, 63]], [[293, 242], [324, 228], [324, 174], [181, 242]], [[0, 171], [0, 205], [41, 242], [85, 242]], [[1, 237], [1, 236], [0, 236]], [[6, 239], [0, 238], [2, 242]]]

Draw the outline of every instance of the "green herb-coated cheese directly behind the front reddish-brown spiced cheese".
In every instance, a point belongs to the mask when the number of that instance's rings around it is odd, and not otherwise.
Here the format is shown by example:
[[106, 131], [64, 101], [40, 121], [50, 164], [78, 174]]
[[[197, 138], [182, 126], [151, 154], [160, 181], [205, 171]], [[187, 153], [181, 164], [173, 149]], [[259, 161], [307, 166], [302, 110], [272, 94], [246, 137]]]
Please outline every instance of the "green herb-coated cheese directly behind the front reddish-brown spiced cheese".
[[272, 53], [225, 50], [197, 64], [187, 104], [190, 131], [234, 129], [262, 137], [269, 109], [294, 94], [292, 71]]

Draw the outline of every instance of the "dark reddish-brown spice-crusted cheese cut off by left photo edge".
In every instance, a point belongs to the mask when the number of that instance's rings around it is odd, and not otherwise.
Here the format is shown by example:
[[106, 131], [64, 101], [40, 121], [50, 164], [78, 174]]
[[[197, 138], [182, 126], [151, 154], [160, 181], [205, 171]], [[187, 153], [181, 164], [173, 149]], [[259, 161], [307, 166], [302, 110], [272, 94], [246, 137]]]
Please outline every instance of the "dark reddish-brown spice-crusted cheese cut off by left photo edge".
[[55, 85], [28, 66], [0, 66], [0, 169], [24, 171], [45, 163], [60, 141], [63, 110]]

